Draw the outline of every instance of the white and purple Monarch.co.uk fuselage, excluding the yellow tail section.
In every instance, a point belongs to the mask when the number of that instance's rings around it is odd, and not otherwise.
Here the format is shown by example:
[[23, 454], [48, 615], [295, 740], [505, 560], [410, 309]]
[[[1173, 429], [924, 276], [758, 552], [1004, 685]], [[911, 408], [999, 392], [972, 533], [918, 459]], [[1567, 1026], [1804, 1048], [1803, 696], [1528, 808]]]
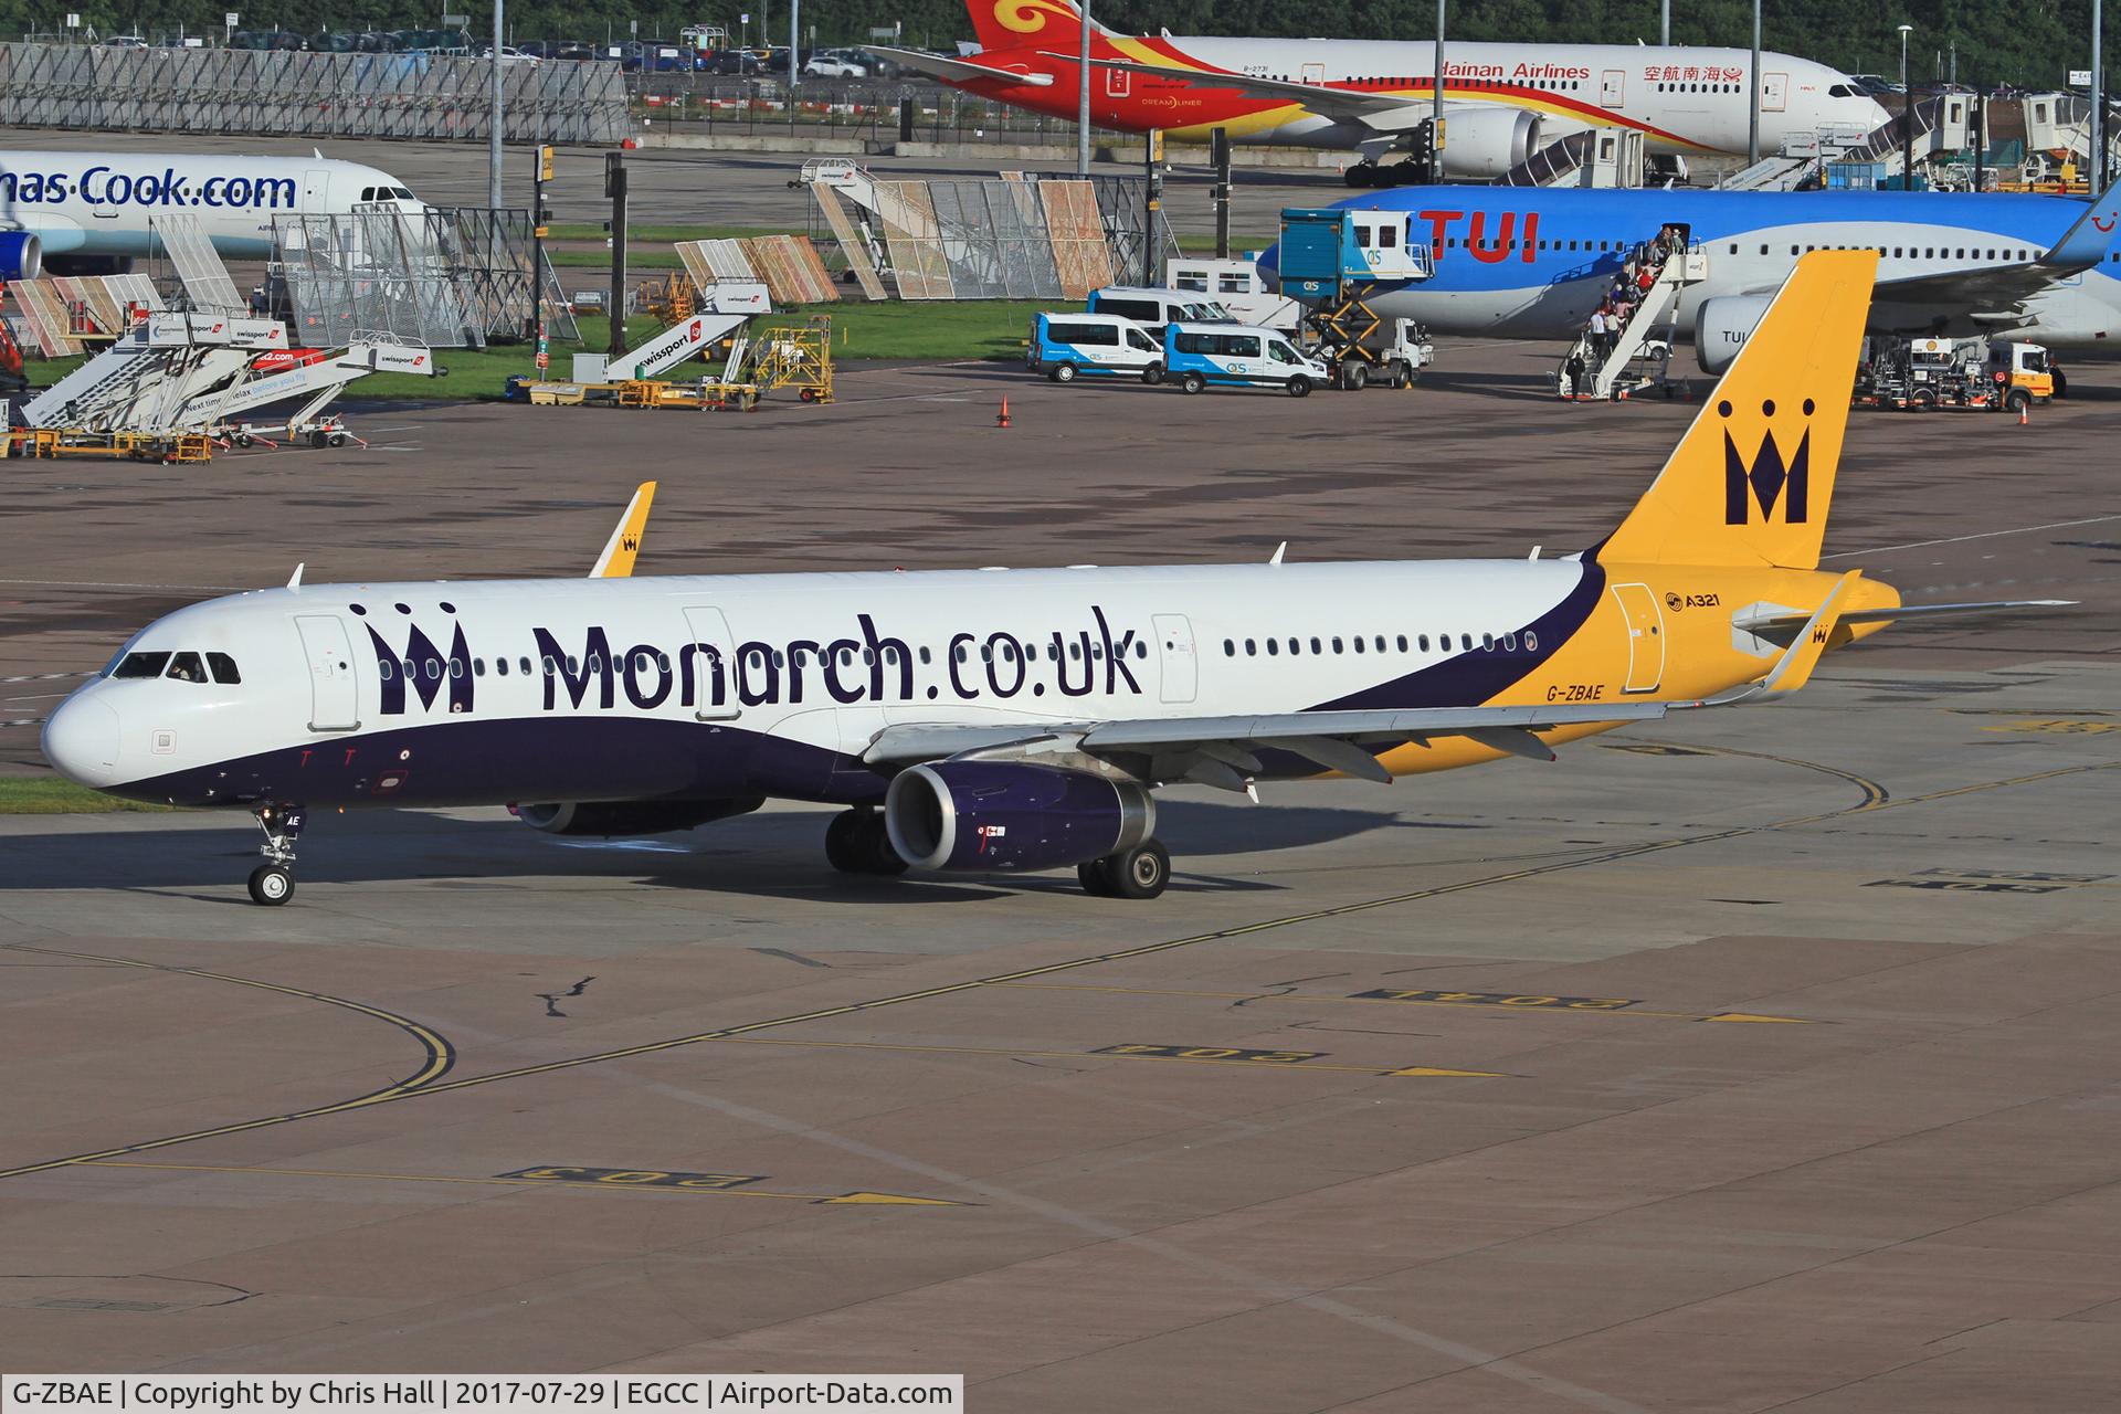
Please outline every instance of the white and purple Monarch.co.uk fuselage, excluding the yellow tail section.
[[[185, 803], [865, 801], [889, 778], [863, 750], [906, 723], [1487, 702], [1582, 628], [1601, 579], [1512, 560], [303, 585], [148, 625], [45, 746], [76, 780]], [[240, 683], [142, 657], [185, 653]], [[142, 661], [159, 676], [125, 676]]]

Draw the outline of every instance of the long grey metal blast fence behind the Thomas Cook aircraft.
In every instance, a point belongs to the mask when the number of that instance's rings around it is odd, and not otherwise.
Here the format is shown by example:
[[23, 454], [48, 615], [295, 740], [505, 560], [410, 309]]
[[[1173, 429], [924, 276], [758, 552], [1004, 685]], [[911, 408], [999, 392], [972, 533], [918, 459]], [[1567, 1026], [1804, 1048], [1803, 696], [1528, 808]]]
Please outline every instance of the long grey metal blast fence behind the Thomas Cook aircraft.
[[[112, 131], [486, 140], [492, 68], [428, 53], [0, 45], [0, 123]], [[617, 64], [505, 64], [509, 142], [632, 134]]]

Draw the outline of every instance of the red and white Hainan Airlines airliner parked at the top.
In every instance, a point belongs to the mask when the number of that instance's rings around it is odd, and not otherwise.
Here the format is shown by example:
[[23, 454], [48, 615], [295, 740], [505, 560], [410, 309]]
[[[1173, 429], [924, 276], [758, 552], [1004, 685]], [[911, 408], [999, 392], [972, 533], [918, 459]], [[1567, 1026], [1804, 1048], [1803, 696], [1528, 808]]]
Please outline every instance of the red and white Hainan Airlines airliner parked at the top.
[[[980, 51], [961, 59], [878, 49], [897, 64], [1012, 108], [1073, 119], [1082, 11], [1071, 0], [965, 0]], [[872, 47], [874, 49], [874, 47]], [[1162, 129], [1362, 153], [1349, 187], [1389, 187], [1421, 161], [1436, 100], [1432, 40], [1130, 38], [1090, 25], [1090, 119], [1120, 131]], [[1640, 131], [1650, 153], [1743, 153], [1752, 53], [1673, 45], [1451, 42], [1444, 49], [1449, 178], [1495, 178], [1548, 142], [1593, 127]], [[1888, 112], [1845, 74], [1760, 53], [1760, 151], [1813, 134], [1866, 136]]]

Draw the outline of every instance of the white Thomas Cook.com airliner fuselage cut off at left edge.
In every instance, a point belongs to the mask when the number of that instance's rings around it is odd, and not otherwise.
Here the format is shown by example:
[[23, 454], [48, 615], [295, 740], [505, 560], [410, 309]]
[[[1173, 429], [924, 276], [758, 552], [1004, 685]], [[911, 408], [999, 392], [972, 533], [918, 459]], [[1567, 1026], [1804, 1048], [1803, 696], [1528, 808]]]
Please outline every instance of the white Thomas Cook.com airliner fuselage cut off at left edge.
[[327, 157], [0, 153], [0, 229], [47, 257], [144, 257], [163, 214], [195, 216], [225, 259], [267, 259], [274, 220], [426, 206], [388, 172]]

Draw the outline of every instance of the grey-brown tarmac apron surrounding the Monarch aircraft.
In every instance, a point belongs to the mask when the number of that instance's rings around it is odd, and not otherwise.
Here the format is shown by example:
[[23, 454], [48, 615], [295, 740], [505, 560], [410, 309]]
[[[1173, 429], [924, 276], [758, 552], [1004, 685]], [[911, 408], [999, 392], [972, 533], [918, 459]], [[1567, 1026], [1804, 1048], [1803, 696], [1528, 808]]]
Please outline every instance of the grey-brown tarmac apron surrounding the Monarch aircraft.
[[[13, 462], [0, 714], [223, 587], [1525, 555], [1693, 403], [848, 367], [823, 409], [358, 411], [367, 452]], [[1707, 379], [1697, 379], [1697, 392]], [[1014, 426], [997, 428], [1007, 394]], [[1860, 413], [1909, 602], [1796, 700], [1555, 765], [1175, 791], [1156, 903], [647, 842], [0, 816], [11, 1369], [967, 1372], [969, 1408], [2081, 1412], [2121, 1389], [2121, 371]], [[38, 770], [32, 727], [0, 770]]]

